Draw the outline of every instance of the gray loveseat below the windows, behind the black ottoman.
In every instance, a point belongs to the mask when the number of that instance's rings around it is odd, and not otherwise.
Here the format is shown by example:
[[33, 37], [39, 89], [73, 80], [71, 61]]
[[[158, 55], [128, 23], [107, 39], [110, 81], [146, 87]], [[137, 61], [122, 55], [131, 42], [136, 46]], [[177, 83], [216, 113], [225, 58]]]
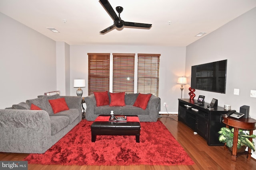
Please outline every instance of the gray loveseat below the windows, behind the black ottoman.
[[[148, 101], [148, 106], [145, 110], [140, 107], [133, 106], [138, 97], [136, 94], [126, 94], [126, 106], [96, 106], [94, 94], [84, 98], [86, 103], [85, 116], [86, 120], [94, 121], [98, 115], [110, 115], [110, 111], [114, 111], [115, 115], [138, 115], [140, 121], [157, 121], [160, 110], [160, 98], [152, 95]], [[110, 96], [109, 96], [110, 99]]]

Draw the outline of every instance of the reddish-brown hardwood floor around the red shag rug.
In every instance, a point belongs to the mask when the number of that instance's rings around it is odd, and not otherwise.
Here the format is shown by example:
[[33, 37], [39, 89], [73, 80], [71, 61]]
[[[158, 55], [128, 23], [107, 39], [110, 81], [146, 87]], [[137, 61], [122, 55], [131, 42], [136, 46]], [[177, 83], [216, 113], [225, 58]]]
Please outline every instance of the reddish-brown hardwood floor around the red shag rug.
[[[234, 162], [231, 160], [230, 152], [224, 151], [223, 146], [208, 146], [202, 137], [194, 135], [189, 127], [178, 122], [177, 115], [163, 115], [159, 120], [166, 125], [167, 129], [194, 160], [194, 165], [62, 166], [29, 164], [28, 170], [252, 170], [256, 167], [256, 160], [253, 158], [247, 161], [246, 155], [241, 155], [238, 156], [236, 162]], [[0, 160], [22, 160], [27, 155], [28, 154], [0, 152]]]

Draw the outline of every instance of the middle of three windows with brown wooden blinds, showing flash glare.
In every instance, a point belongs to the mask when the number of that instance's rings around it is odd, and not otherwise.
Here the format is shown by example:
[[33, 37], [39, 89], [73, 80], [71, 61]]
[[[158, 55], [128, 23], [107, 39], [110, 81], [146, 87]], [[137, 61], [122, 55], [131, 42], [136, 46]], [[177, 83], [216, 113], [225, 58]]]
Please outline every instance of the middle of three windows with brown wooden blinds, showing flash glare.
[[134, 93], [134, 56], [113, 53], [113, 92]]

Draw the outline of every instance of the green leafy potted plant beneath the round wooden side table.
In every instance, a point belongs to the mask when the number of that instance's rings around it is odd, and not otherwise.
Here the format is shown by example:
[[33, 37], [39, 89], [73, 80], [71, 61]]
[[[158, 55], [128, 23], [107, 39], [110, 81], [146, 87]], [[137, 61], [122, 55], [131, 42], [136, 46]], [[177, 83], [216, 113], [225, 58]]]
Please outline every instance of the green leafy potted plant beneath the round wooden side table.
[[[220, 134], [219, 141], [222, 143], [226, 143], [226, 146], [230, 149], [233, 147], [233, 138], [234, 138], [234, 128], [229, 129], [227, 127], [222, 127], [218, 132]], [[255, 138], [256, 135], [249, 135], [248, 133], [244, 133], [242, 129], [238, 131], [238, 141], [237, 141], [237, 150], [240, 150], [241, 147], [249, 147], [253, 151], [255, 151], [254, 142], [249, 141], [249, 138]]]

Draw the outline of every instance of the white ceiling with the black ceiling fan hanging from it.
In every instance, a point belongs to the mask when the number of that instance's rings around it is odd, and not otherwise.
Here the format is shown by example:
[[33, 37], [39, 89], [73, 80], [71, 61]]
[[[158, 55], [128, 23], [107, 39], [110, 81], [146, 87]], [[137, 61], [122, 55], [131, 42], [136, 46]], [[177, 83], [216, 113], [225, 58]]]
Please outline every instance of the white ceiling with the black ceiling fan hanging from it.
[[[113, 25], [99, 0], [0, 0], [0, 12], [69, 45], [120, 44], [187, 46], [256, 7], [256, 0], [108, 0], [115, 10], [124, 8], [124, 21], [152, 23], [150, 29]], [[66, 20], [64, 23], [63, 20]], [[171, 24], [168, 24], [171, 21]], [[1, 23], [2, 24], [2, 23]], [[46, 27], [54, 27], [53, 33]]]

